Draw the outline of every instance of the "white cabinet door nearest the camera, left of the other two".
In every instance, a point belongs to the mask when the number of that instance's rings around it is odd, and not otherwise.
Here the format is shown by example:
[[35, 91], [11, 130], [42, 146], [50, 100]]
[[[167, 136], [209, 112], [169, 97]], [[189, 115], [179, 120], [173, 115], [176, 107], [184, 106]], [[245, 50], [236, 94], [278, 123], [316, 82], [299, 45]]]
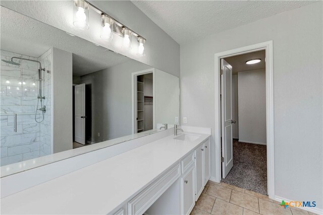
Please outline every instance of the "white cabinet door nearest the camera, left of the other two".
[[194, 205], [194, 166], [192, 166], [182, 177], [182, 214], [189, 214]]

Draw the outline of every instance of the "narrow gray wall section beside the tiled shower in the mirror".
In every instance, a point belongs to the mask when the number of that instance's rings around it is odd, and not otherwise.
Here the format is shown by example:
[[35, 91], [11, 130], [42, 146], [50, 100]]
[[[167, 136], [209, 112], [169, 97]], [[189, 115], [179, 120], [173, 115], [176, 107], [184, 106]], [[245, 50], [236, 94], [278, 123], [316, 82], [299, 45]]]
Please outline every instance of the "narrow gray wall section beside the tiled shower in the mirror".
[[72, 53], [52, 48], [53, 153], [73, 148]]

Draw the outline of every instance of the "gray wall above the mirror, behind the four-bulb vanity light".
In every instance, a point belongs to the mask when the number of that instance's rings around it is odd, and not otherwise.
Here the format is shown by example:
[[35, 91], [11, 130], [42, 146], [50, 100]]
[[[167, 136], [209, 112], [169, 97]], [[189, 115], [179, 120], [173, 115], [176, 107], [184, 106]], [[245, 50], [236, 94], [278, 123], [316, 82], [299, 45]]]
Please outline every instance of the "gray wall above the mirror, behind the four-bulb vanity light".
[[[116, 50], [112, 44], [105, 43], [105, 47], [179, 77], [180, 45], [131, 1], [90, 1], [90, 3], [147, 39], [144, 45], [146, 56], [143, 57], [122, 49]], [[93, 28], [90, 27], [89, 31], [79, 31], [71, 24], [73, 1], [1, 1], [1, 5], [83, 39], [98, 43], [95, 38], [97, 29], [94, 29], [91, 35], [89, 32], [92, 32]], [[90, 22], [92, 22], [94, 14], [91, 15]]]

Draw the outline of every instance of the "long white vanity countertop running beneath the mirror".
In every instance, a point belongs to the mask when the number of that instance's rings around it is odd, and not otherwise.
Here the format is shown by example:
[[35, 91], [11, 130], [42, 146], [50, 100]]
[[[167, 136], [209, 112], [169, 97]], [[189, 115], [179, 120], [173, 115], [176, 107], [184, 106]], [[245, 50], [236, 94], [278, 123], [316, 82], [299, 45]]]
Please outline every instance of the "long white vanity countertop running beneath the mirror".
[[[2, 214], [106, 214], [124, 204], [209, 134], [193, 141], [174, 135], [150, 142], [1, 199]], [[36, 176], [35, 176], [36, 177]]]

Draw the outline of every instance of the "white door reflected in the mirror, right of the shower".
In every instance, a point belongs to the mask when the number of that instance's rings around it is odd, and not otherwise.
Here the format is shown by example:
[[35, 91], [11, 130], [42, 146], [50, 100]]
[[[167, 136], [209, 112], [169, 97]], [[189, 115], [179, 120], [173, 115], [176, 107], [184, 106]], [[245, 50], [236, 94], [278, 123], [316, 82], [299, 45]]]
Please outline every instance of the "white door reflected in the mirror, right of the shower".
[[74, 140], [85, 145], [85, 84], [75, 86]]

